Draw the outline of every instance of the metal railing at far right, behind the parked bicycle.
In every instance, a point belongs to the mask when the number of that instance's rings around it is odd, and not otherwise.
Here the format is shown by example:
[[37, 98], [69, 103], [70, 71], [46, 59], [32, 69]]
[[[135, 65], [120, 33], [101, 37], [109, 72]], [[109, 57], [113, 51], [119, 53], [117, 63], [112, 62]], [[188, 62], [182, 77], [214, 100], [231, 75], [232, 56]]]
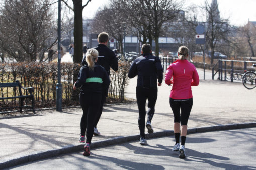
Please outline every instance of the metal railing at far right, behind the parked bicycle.
[[[231, 62], [231, 65], [227, 65], [227, 62]], [[243, 63], [239, 65], [243, 65], [242, 67], [234, 67], [234, 63]], [[213, 67], [212, 67], [212, 79], [214, 80], [214, 76], [218, 73], [218, 78], [221, 81], [230, 80], [233, 82], [234, 80], [240, 81], [242, 79], [243, 74], [247, 71], [248, 63], [256, 63], [256, 61], [240, 61], [240, 60], [222, 60], [220, 59]], [[251, 65], [252, 65], [251, 64]], [[218, 69], [216, 68], [218, 66]], [[253, 70], [253, 68], [251, 68]], [[224, 73], [224, 76], [223, 76]]]

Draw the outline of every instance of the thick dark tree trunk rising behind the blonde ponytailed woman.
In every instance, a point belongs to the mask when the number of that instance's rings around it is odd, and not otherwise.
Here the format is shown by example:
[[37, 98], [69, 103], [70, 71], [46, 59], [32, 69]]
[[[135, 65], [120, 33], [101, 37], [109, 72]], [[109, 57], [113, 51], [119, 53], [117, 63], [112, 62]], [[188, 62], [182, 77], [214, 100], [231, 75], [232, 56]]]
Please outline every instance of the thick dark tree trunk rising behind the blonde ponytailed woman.
[[74, 63], [82, 61], [82, 0], [73, 0], [74, 5]]

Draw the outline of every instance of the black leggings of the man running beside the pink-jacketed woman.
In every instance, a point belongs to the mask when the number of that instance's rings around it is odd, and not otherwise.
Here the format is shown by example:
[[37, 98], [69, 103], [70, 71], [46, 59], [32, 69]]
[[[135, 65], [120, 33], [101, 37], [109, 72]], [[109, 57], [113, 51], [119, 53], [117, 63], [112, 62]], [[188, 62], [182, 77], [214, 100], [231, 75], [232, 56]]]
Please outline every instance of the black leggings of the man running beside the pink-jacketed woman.
[[145, 138], [145, 117], [146, 117], [146, 100], [148, 100], [147, 121], [152, 120], [155, 112], [155, 103], [157, 99], [157, 87], [156, 88], [136, 88], [136, 98], [139, 109], [139, 130], [140, 136]]

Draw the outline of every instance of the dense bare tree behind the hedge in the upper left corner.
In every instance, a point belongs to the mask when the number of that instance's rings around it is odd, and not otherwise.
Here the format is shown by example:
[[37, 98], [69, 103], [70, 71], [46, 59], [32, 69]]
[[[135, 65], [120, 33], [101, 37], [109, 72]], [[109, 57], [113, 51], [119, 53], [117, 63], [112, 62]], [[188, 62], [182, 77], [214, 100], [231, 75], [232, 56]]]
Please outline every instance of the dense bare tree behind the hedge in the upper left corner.
[[16, 61], [40, 61], [57, 41], [50, 0], [6, 0], [0, 9], [0, 46]]

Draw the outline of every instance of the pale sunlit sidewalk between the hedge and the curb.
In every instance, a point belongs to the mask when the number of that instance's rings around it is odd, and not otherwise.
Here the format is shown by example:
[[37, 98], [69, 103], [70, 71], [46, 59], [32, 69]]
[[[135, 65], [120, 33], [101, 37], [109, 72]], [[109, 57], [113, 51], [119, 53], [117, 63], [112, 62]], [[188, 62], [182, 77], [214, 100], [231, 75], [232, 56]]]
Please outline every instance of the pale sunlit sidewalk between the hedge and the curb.
[[[136, 80], [130, 80], [127, 97], [135, 98]], [[152, 120], [156, 133], [148, 137], [172, 133], [174, 117], [169, 106], [170, 88], [164, 83], [158, 88], [156, 113]], [[199, 86], [192, 87], [192, 91], [194, 105], [188, 122], [190, 132], [206, 126], [209, 128], [201, 128], [201, 131], [217, 130], [228, 124], [236, 125], [225, 126], [227, 129], [256, 127], [256, 90], [248, 90], [241, 83], [200, 80]], [[81, 108], [36, 113], [16, 118], [0, 117], [0, 169], [83, 147], [78, 143]], [[137, 104], [104, 106], [98, 130], [102, 135], [93, 137], [94, 147], [114, 144], [115, 139], [118, 139], [115, 142], [139, 139]]]

